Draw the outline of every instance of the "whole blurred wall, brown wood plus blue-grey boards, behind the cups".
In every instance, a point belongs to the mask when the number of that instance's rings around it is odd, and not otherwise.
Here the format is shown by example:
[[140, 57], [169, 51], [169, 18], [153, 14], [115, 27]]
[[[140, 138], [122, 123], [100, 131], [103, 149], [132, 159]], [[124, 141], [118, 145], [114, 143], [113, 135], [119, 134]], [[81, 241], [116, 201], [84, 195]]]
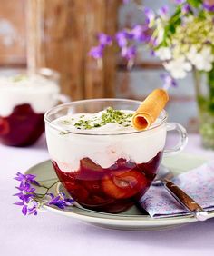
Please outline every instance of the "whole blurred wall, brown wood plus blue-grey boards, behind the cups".
[[[103, 68], [88, 55], [96, 34], [143, 21], [141, 12], [120, 0], [0, 0], [0, 74], [15, 69], [49, 67], [61, 74], [63, 94], [73, 100], [120, 97], [142, 100], [161, 86], [160, 61], [141, 49], [136, 64], [127, 70], [120, 54], [110, 47]], [[172, 1], [139, 1], [158, 9]], [[170, 121], [198, 131], [197, 104], [191, 74], [170, 89]], [[185, 114], [184, 114], [185, 113]]]

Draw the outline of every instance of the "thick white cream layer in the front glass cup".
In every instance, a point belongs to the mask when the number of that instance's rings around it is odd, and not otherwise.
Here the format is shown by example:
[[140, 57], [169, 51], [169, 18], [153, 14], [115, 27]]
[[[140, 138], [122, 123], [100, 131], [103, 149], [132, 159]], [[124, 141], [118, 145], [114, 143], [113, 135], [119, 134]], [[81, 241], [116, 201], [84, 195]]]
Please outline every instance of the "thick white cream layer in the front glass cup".
[[[102, 113], [78, 113], [59, 117], [53, 123], [63, 132], [46, 123], [46, 140], [50, 156], [63, 172], [77, 171], [80, 160], [85, 157], [102, 168], [109, 168], [120, 158], [136, 163], [149, 162], [163, 150], [166, 140], [165, 123], [144, 132], [136, 132], [129, 118], [122, 124], [106, 123], [90, 129], [75, 125], [83, 118], [92, 120], [92, 125], [94, 117], [97, 117], [96, 123], [99, 123]], [[122, 110], [122, 113], [130, 115], [133, 112]], [[153, 126], [157, 122], [160, 120]]]

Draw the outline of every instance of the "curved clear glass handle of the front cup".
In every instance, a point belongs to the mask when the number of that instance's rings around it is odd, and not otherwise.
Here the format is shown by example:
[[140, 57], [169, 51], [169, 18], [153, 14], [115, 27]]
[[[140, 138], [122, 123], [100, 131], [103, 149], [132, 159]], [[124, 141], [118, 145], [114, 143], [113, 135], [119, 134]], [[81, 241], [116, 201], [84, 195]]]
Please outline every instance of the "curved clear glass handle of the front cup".
[[180, 135], [180, 141], [172, 149], [165, 149], [163, 156], [171, 156], [180, 153], [188, 143], [188, 134], [186, 129], [180, 123], [167, 123], [167, 131], [177, 131]]

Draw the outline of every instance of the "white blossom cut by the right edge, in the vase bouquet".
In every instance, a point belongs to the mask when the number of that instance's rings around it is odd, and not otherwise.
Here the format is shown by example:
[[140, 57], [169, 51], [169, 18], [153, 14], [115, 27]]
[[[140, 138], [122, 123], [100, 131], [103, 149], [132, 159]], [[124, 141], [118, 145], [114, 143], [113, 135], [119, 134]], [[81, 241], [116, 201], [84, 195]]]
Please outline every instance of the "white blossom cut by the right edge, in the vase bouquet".
[[190, 47], [190, 52], [187, 54], [191, 64], [195, 65], [198, 70], [209, 72], [212, 69], [214, 62], [214, 55], [210, 46], [205, 46], [198, 52], [197, 48], [193, 45]]

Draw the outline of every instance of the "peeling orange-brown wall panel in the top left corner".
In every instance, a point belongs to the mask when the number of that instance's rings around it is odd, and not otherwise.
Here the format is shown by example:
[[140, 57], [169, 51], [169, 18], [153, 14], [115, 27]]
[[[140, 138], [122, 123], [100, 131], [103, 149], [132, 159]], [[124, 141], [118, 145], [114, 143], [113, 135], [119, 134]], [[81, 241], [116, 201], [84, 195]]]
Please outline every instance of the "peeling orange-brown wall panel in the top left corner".
[[25, 0], [0, 0], [0, 66], [24, 65]]

